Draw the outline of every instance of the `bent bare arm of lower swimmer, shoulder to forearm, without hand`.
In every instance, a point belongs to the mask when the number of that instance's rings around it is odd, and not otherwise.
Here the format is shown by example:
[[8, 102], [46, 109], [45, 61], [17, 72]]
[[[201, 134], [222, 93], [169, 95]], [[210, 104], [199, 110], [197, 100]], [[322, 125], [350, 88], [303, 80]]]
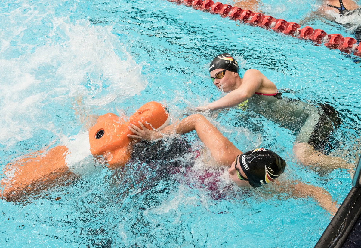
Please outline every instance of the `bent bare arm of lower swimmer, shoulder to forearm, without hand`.
[[177, 134], [186, 134], [194, 130], [218, 164], [232, 164], [236, 155], [242, 153], [201, 114], [192, 114], [184, 118], [176, 127]]

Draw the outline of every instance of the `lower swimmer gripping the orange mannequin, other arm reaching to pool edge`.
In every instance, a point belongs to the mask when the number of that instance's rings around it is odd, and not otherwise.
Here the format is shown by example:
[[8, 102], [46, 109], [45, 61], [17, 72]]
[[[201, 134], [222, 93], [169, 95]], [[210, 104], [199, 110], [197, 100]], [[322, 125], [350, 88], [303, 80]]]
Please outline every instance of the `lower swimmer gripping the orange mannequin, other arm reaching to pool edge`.
[[216, 163], [228, 167], [229, 176], [236, 185], [260, 187], [274, 181], [279, 191], [287, 191], [292, 197], [312, 197], [332, 215], [337, 211], [337, 204], [332, 202], [332, 197], [326, 190], [297, 180], [277, 181], [286, 167], [286, 162], [278, 154], [263, 148], [243, 153], [201, 114], [192, 114], [162, 131], [149, 130], [141, 122], [139, 126], [141, 128], [130, 124], [128, 128], [134, 135], [129, 134], [128, 137], [154, 141], [165, 139], [169, 135], [196, 131]]

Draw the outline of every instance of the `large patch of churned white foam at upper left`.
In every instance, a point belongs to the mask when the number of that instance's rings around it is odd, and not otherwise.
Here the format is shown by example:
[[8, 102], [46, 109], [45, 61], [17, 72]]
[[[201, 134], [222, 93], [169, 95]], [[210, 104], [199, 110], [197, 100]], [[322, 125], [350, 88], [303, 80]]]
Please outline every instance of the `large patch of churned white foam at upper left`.
[[[8, 19], [14, 20], [16, 14], [15, 10], [9, 13]], [[72, 23], [69, 18], [51, 22], [53, 28], [45, 35], [44, 44], [37, 46], [20, 39], [18, 32], [7, 33], [10, 40], [17, 40], [13, 46], [25, 49], [20, 55], [14, 52], [0, 59], [0, 143], [7, 146], [31, 138], [36, 129], [49, 130], [53, 122], [56, 125], [55, 106], [64, 109], [65, 115], [79, 103], [78, 108], [91, 112], [140, 94], [148, 84], [141, 66], [111, 26], [92, 26], [85, 20]], [[25, 33], [32, 26], [18, 28]], [[10, 44], [2, 40], [0, 51], [10, 49]], [[74, 102], [79, 98], [81, 101]], [[60, 110], [57, 114], [62, 117], [64, 113]]]

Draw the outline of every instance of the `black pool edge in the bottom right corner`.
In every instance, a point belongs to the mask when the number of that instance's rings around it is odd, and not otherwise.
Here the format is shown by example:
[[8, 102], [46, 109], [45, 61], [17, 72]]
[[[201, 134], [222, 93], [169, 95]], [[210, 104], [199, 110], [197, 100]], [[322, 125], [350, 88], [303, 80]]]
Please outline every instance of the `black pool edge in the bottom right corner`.
[[361, 156], [352, 186], [314, 248], [361, 248]]

